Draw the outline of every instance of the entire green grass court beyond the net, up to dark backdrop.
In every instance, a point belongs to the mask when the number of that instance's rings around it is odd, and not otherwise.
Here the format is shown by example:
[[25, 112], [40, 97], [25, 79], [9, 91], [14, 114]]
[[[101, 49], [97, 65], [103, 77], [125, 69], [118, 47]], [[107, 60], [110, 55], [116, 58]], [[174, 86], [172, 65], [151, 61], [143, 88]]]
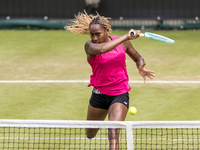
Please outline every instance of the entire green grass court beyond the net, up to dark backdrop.
[[[131, 41], [156, 80], [200, 80], [200, 31], [152, 31], [175, 44]], [[121, 36], [126, 30], [113, 31]], [[0, 80], [89, 80], [87, 35], [62, 30], [0, 30]], [[127, 56], [130, 80], [143, 80]], [[149, 80], [149, 79], [148, 79]], [[126, 120], [199, 120], [199, 84], [130, 84]], [[87, 83], [0, 83], [1, 119], [85, 120], [92, 88]]]

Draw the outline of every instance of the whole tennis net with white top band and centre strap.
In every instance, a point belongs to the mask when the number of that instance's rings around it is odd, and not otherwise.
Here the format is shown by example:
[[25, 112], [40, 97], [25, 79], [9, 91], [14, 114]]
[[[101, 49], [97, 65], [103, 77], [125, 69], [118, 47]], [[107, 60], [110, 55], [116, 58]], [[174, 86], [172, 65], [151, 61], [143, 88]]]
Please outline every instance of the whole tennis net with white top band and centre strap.
[[[100, 128], [88, 139], [86, 128]], [[107, 150], [120, 129], [120, 150], [200, 149], [200, 121], [0, 120], [3, 150]]]

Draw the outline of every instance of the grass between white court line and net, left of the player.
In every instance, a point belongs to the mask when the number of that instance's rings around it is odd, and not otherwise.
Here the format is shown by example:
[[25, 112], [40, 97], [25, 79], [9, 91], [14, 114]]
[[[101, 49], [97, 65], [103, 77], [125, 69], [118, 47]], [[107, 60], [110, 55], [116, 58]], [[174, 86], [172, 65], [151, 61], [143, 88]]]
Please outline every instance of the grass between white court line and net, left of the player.
[[82, 85], [1, 84], [0, 118], [85, 120], [90, 93]]

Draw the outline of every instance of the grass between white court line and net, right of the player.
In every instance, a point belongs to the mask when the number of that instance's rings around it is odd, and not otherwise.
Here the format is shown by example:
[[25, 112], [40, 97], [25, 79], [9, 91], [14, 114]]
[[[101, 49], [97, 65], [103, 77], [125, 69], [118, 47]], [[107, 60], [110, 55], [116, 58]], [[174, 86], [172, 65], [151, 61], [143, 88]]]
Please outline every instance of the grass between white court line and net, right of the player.
[[138, 112], [127, 120], [199, 120], [199, 88], [193, 84], [136, 85], [130, 92], [130, 105]]

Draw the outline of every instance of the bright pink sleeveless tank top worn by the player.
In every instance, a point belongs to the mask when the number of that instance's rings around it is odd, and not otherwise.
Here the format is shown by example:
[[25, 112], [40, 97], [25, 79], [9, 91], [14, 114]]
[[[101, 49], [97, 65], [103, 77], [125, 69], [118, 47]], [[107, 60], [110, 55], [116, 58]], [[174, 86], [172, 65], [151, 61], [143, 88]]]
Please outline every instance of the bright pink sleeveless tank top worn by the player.
[[[112, 40], [116, 36], [110, 37]], [[90, 84], [106, 95], [120, 95], [131, 90], [126, 69], [126, 50], [120, 44], [113, 50], [92, 56], [88, 61], [92, 68]]]

